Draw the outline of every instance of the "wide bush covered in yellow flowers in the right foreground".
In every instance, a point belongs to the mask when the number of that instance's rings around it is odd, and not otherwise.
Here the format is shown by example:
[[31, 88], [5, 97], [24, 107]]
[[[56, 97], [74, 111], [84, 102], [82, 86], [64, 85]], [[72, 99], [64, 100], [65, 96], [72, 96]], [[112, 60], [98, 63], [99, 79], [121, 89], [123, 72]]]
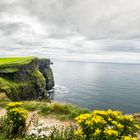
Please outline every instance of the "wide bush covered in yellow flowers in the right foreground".
[[75, 133], [85, 140], [136, 140], [139, 130], [131, 116], [124, 116], [119, 111], [95, 110], [81, 114], [75, 120], [80, 126]]

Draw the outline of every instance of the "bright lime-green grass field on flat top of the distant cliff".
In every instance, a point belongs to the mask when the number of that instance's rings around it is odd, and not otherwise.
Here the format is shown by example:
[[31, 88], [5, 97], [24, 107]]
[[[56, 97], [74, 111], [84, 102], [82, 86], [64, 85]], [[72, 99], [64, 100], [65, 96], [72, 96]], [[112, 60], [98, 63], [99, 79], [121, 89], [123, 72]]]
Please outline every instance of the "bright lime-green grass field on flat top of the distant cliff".
[[0, 65], [8, 64], [26, 64], [31, 62], [34, 57], [9, 57], [9, 58], [0, 58]]

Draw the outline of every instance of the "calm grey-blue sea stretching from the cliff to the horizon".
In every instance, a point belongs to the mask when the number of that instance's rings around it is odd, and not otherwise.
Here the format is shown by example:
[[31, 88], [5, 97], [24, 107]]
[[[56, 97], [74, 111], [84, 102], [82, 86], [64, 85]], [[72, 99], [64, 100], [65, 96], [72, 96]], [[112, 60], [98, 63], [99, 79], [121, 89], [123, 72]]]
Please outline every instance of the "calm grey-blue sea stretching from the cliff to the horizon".
[[54, 62], [52, 69], [56, 101], [140, 112], [140, 65]]

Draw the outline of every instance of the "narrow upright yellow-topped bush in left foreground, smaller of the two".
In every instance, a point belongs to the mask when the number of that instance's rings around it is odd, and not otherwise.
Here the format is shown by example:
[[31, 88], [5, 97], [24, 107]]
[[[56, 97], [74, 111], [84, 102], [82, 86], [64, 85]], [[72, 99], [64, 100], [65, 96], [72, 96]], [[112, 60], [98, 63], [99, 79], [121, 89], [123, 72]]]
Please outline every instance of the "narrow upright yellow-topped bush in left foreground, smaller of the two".
[[7, 105], [7, 113], [3, 119], [2, 130], [7, 138], [22, 136], [26, 131], [27, 112], [22, 108], [21, 102]]

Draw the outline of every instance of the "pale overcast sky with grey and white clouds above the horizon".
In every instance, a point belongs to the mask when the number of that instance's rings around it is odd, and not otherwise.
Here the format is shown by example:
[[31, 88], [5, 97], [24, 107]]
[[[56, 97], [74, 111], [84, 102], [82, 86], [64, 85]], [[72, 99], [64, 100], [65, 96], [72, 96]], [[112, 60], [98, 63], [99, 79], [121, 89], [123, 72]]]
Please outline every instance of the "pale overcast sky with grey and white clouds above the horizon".
[[0, 56], [140, 62], [140, 0], [0, 0]]

